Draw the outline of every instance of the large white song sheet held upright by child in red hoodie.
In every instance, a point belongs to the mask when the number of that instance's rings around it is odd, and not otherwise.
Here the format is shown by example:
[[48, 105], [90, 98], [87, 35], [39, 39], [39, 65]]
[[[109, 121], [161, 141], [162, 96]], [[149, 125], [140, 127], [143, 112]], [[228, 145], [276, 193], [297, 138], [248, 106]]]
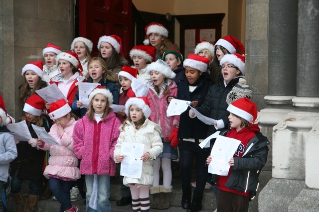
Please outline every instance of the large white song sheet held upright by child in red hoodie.
[[240, 143], [240, 140], [218, 135], [210, 153], [212, 160], [208, 172], [227, 176], [230, 168], [228, 161], [234, 156]]

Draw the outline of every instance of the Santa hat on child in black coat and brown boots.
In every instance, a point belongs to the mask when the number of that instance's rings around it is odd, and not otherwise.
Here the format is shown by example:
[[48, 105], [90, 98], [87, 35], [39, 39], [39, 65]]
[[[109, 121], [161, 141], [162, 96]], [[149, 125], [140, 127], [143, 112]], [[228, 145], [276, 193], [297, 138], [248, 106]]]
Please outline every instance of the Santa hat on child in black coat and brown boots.
[[32, 115], [40, 116], [45, 109], [45, 102], [36, 94], [33, 94], [24, 103], [23, 111]]

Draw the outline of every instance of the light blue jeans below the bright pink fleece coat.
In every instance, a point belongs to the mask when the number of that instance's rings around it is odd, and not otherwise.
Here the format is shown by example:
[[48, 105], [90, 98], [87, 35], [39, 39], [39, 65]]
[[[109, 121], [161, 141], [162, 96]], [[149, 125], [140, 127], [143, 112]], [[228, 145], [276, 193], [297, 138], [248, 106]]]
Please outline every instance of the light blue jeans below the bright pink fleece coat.
[[93, 192], [94, 175], [85, 175], [86, 183], [86, 212], [111, 212], [109, 175], [98, 175], [98, 204], [97, 210], [89, 207]]

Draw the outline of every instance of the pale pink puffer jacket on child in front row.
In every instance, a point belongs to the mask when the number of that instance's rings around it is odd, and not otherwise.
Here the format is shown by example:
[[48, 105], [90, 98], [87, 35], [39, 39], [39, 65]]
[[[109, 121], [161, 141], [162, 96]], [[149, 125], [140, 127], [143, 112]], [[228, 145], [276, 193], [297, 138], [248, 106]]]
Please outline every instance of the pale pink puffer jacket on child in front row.
[[80, 176], [78, 159], [73, 149], [73, 128], [76, 123], [74, 118], [64, 127], [64, 133], [60, 136], [57, 133], [58, 125], [55, 123], [50, 128], [49, 134], [59, 142], [60, 146], [43, 143], [40, 149], [50, 151], [49, 165], [45, 167], [43, 175], [46, 178], [57, 177], [65, 180], [77, 180]]

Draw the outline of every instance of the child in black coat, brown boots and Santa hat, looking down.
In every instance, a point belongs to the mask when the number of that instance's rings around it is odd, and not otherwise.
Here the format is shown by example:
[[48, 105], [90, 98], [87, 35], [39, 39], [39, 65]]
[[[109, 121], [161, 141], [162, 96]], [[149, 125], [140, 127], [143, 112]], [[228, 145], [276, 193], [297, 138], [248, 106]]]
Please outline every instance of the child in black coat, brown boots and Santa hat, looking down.
[[[28, 141], [20, 141], [17, 145], [18, 157], [10, 163], [11, 166], [11, 196], [16, 204], [16, 212], [34, 212], [39, 200], [42, 184], [42, 165], [45, 151], [36, 148], [37, 135], [32, 125], [44, 127], [48, 132], [49, 121], [41, 116], [44, 109], [44, 101], [37, 95], [32, 95], [24, 104], [23, 116], [20, 120], [25, 120], [32, 138]], [[29, 180], [29, 192], [27, 200], [23, 198], [21, 185], [23, 180]]]

